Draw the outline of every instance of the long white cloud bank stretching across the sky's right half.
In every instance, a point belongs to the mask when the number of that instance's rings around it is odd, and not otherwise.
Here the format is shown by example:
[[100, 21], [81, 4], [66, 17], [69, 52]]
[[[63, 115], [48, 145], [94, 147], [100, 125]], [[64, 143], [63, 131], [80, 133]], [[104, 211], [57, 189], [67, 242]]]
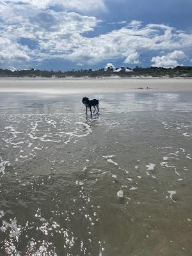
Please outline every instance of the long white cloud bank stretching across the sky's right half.
[[[150, 51], [177, 51], [192, 47], [192, 35], [176, 31], [170, 26], [148, 24], [141, 28], [121, 28], [95, 38], [79, 38], [79, 45], [68, 56], [73, 61], [99, 63], [109, 58], [124, 59], [125, 63], [139, 63], [140, 54]], [[188, 40], [183, 40], [188, 38]]]

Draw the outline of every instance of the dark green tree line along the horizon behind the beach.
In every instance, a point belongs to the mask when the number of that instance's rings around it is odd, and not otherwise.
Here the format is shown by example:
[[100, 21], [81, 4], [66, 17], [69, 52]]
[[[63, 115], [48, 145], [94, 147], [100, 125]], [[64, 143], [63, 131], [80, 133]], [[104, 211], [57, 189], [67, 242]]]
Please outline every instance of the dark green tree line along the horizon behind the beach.
[[[129, 67], [127, 67], [129, 68]], [[129, 68], [131, 69], [131, 68]], [[163, 68], [163, 67], [138, 67], [132, 68], [134, 72], [113, 72], [113, 68], [109, 67], [107, 70], [100, 68], [99, 70], [92, 70], [92, 68], [86, 70], [71, 70], [61, 72], [61, 70], [38, 70], [38, 69], [27, 69], [27, 70], [9, 70], [0, 68], [0, 77], [134, 77], [134, 76], [152, 76], [152, 77], [192, 77], [192, 67], [178, 66], [175, 68]]]

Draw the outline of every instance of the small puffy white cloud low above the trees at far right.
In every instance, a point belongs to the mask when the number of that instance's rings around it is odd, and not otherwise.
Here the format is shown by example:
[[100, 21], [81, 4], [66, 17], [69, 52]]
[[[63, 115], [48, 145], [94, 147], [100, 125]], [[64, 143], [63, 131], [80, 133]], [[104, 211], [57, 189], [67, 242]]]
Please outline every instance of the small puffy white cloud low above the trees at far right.
[[178, 60], [182, 60], [184, 58], [186, 58], [186, 54], [184, 54], [183, 51], [173, 51], [161, 57], [153, 57], [151, 60], [154, 62], [152, 67], [174, 68], [182, 66], [182, 64], [179, 64]]

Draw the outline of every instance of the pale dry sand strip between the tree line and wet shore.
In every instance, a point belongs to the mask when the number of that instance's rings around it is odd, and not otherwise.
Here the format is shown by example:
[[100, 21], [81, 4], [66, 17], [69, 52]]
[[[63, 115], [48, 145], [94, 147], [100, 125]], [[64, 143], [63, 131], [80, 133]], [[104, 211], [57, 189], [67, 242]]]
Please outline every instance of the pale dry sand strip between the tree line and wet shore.
[[56, 94], [92, 92], [192, 92], [192, 79], [0, 79], [0, 92]]

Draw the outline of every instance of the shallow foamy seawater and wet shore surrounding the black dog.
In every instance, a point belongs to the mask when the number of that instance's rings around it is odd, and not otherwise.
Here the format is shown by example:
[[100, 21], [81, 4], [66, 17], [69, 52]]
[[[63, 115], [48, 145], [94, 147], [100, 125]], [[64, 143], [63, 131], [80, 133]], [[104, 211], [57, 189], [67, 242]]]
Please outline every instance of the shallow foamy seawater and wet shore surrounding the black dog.
[[191, 96], [1, 93], [0, 255], [191, 255]]

